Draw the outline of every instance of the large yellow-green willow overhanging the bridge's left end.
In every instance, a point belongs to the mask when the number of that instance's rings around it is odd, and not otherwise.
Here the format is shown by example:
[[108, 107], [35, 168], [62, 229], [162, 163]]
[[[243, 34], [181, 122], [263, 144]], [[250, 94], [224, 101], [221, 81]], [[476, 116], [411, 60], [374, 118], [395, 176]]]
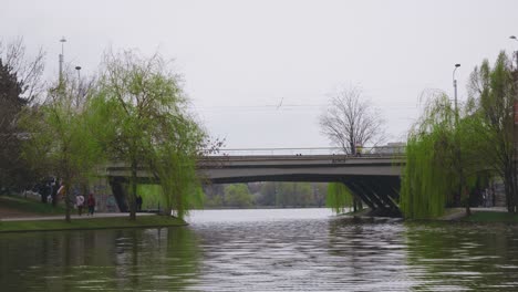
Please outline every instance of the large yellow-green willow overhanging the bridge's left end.
[[106, 55], [92, 104], [108, 125], [101, 137], [111, 158], [131, 167], [132, 218], [139, 167], [148, 168], [162, 186], [166, 212], [175, 210], [183, 218], [189, 208], [201, 205], [196, 159], [206, 134], [186, 112], [178, 76], [160, 56]]

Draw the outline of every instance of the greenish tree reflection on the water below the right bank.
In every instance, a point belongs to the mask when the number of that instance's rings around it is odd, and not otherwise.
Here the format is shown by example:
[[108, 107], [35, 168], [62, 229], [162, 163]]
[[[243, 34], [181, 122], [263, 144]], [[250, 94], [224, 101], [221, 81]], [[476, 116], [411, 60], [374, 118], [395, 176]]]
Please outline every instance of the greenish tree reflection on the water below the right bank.
[[506, 225], [407, 223], [416, 291], [516, 291], [518, 229]]

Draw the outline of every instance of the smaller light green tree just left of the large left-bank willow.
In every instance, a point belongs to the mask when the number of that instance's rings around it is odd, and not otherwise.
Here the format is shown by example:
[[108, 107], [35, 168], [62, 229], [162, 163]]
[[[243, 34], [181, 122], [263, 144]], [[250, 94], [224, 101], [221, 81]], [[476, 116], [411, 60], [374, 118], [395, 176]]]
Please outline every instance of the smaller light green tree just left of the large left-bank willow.
[[23, 157], [35, 171], [63, 179], [66, 220], [70, 221], [71, 186], [93, 175], [103, 159], [103, 149], [92, 131], [90, 112], [77, 103], [77, 87], [65, 79], [39, 107], [25, 108], [20, 127], [30, 133], [23, 143]]

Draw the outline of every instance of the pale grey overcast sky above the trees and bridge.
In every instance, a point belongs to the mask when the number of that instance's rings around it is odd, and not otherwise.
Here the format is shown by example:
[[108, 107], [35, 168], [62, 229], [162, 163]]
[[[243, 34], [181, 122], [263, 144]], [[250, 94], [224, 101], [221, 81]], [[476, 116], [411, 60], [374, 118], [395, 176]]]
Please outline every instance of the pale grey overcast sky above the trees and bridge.
[[[228, 148], [327, 147], [318, 117], [340, 87], [360, 86], [403, 140], [423, 91], [458, 96], [475, 65], [518, 50], [518, 1], [2, 0], [0, 36], [97, 71], [107, 48], [174, 59], [193, 111]], [[281, 104], [282, 102], [282, 104]], [[278, 105], [281, 104], [279, 107]]]

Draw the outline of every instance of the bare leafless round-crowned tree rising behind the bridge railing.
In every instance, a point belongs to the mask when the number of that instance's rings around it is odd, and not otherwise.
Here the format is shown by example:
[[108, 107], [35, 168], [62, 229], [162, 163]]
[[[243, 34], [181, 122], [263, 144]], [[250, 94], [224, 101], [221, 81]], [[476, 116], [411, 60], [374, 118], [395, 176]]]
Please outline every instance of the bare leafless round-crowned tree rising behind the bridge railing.
[[344, 154], [356, 154], [356, 146], [376, 146], [384, 139], [384, 121], [358, 87], [342, 90], [320, 116], [321, 132]]

